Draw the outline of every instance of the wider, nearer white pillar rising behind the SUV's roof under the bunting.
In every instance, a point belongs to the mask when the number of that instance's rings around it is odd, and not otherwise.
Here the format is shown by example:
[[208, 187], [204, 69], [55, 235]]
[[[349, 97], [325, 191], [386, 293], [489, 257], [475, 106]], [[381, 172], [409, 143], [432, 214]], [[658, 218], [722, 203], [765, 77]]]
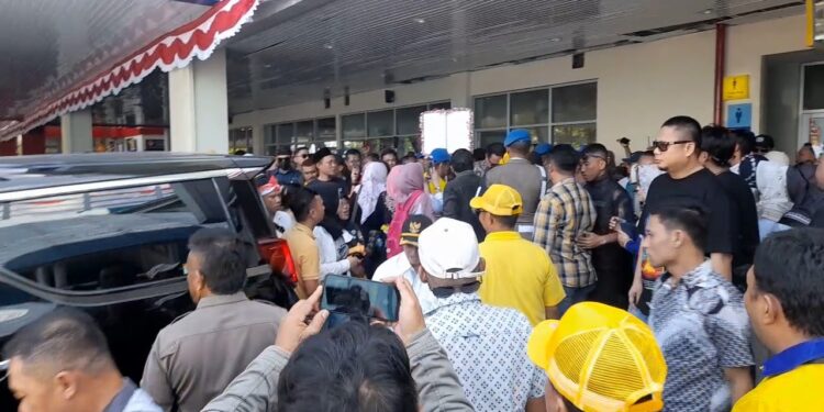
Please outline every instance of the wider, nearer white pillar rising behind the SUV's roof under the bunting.
[[172, 152], [229, 153], [226, 51], [169, 73]]

